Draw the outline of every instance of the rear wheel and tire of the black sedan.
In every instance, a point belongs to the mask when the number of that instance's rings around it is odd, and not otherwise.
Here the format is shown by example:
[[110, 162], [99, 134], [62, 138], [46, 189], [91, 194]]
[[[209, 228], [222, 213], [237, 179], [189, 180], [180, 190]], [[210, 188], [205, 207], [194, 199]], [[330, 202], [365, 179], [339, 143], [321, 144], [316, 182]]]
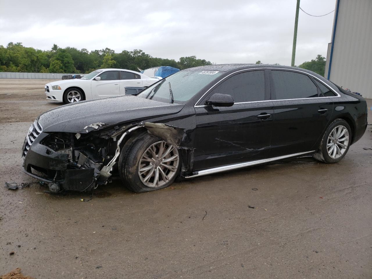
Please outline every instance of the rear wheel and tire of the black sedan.
[[337, 163], [345, 157], [351, 140], [350, 125], [343, 119], [336, 119], [328, 126], [317, 152], [312, 157], [328, 164]]

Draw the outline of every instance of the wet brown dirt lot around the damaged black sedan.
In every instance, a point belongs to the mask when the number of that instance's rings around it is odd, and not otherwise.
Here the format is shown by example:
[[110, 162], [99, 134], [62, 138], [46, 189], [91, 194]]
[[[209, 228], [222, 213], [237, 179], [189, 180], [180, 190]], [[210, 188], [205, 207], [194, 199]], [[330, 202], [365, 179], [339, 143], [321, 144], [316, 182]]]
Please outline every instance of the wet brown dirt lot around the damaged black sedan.
[[[20, 170], [25, 134], [60, 105], [45, 99], [45, 83], [0, 79], [1, 185], [34, 181]], [[90, 202], [0, 187], [0, 275], [20, 267], [35, 278], [372, 278], [368, 127], [338, 164], [296, 158], [143, 194], [115, 181]]]

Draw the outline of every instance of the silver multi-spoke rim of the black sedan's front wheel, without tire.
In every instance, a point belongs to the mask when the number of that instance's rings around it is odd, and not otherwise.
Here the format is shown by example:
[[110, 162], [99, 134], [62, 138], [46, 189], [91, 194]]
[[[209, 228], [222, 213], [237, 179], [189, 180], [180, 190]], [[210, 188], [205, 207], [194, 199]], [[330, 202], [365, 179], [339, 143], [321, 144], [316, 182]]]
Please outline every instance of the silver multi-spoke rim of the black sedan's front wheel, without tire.
[[155, 142], [142, 154], [138, 176], [147, 187], [161, 187], [174, 177], [179, 161], [176, 147], [165, 141]]

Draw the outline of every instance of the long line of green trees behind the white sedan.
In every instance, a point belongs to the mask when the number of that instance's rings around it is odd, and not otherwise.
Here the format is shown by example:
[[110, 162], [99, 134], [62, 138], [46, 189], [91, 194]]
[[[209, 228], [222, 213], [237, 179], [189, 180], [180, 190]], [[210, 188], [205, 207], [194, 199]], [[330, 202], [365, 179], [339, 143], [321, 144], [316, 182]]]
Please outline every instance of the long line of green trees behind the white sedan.
[[181, 57], [179, 61], [152, 57], [141, 49], [123, 50], [115, 53], [104, 48], [88, 51], [73, 47], [60, 48], [54, 44], [50, 50], [24, 47], [21, 42], [9, 42], [6, 47], [0, 45], [1, 71], [12, 72], [53, 72], [53, 73], [89, 73], [99, 67], [118, 67], [137, 71], [158, 66], [171, 66], [179, 69], [210, 65], [210, 61], [195, 56]]

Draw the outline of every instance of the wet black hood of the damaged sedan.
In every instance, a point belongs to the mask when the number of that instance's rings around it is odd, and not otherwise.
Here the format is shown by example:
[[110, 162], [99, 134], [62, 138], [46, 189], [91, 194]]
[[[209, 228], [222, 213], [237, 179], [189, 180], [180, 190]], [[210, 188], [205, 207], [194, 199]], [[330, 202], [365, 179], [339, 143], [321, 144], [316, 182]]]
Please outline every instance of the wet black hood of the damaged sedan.
[[177, 113], [184, 106], [125, 95], [60, 106], [44, 112], [38, 121], [43, 132], [87, 133], [123, 122]]

